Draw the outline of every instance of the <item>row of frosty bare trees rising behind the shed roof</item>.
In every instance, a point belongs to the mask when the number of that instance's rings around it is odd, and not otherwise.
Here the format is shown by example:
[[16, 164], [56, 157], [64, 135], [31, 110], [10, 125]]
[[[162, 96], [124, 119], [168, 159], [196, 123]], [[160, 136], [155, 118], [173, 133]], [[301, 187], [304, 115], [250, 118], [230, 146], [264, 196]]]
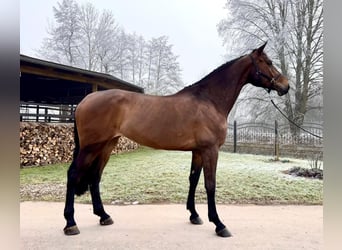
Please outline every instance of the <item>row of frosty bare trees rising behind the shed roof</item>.
[[146, 40], [128, 34], [113, 13], [94, 5], [63, 0], [54, 7], [55, 25], [40, 55], [88, 70], [114, 74], [144, 87], [147, 93], [170, 94], [183, 87], [178, 57], [168, 37]]

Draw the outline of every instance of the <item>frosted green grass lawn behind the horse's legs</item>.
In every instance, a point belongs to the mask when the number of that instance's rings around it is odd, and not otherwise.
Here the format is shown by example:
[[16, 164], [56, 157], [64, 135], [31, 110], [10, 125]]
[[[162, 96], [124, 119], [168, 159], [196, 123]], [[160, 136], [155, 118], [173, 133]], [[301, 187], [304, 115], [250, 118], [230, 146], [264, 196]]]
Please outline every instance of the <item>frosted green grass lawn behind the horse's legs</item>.
[[[113, 155], [102, 175], [104, 203], [185, 203], [191, 152], [138, 150]], [[217, 203], [322, 204], [323, 181], [286, 175], [294, 166], [310, 168], [308, 160], [220, 152]], [[68, 164], [20, 170], [20, 199], [64, 201]], [[206, 203], [203, 173], [196, 201]], [[89, 192], [76, 198], [91, 202]]]

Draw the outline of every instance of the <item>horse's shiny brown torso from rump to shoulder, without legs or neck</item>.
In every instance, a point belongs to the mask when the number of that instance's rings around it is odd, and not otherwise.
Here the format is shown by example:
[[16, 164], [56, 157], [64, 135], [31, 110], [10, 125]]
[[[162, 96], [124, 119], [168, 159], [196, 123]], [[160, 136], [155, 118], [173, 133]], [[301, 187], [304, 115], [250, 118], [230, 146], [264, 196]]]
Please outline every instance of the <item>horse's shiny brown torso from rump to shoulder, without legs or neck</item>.
[[[80, 142], [90, 144], [123, 135], [153, 148], [191, 150], [224, 141], [225, 117], [192, 96], [102, 92], [87, 97], [77, 109]], [[82, 137], [80, 130], [86, 136]]]

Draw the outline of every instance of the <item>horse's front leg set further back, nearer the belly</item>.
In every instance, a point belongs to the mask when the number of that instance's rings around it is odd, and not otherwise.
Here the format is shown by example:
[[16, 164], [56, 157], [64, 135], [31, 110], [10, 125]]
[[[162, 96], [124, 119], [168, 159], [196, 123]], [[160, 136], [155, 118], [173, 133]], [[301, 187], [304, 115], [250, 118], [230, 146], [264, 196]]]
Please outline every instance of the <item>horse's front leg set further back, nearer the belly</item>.
[[195, 209], [195, 192], [198, 184], [198, 180], [201, 176], [202, 171], [202, 158], [198, 152], [192, 152], [192, 161], [191, 161], [191, 171], [189, 176], [189, 194], [188, 200], [186, 203], [186, 208], [190, 211], [190, 222], [195, 225], [203, 224], [202, 219], [199, 217], [196, 209]]

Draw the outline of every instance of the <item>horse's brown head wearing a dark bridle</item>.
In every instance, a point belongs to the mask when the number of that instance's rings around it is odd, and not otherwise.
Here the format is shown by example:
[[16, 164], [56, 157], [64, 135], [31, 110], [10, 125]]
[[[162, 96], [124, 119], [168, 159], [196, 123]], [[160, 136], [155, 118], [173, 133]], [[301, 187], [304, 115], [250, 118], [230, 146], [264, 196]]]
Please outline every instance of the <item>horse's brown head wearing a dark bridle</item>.
[[268, 89], [268, 92], [276, 90], [279, 96], [285, 95], [290, 88], [288, 79], [279, 73], [264, 53], [266, 44], [267, 42], [249, 55], [252, 61], [250, 82], [255, 86]]

